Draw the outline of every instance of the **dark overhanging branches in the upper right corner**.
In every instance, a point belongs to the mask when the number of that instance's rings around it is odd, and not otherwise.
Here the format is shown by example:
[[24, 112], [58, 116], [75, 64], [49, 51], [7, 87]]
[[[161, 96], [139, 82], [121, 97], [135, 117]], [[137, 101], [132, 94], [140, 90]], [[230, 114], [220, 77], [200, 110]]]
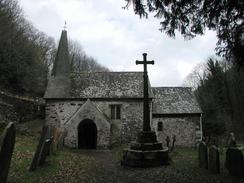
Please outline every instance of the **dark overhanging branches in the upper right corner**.
[[125, 0], [135, 14], [153, 13], [161, 20], [161, 31], [171, 37], [179, 31], [185, 38], [204, 34], [208, 28], [217, 33], [217, 53], [244, 67], [243, 0]]

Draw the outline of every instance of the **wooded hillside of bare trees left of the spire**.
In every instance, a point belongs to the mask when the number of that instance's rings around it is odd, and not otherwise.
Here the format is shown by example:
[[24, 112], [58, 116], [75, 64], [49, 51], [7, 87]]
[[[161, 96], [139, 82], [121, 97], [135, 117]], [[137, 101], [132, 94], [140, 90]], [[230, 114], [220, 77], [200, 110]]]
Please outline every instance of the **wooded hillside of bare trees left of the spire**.
[[23, 16], [16, 0], [0, 0], [0, 86], [43, 96], [55, 44]]

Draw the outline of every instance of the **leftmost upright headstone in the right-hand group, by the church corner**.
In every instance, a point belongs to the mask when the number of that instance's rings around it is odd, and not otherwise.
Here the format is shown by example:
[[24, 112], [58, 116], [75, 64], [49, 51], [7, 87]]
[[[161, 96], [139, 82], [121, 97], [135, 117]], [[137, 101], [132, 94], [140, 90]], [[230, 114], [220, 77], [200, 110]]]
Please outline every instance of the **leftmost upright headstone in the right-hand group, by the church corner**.
[[200, 142], [198, 146], [198, 161], [200, 168], [208, 169], [208, 148], [205, 142]]

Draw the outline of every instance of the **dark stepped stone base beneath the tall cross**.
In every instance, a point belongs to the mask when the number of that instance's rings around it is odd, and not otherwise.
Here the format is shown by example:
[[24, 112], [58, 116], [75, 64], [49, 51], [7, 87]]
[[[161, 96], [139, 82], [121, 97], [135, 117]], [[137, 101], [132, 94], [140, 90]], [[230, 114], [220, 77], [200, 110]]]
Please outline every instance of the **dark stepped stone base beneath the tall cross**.
[[130, 167], [155, 167], [169, 163], [168, 148], [158, 143], [155, 132], [140, 132], [137, 142], [124, 149], [121, 165]]

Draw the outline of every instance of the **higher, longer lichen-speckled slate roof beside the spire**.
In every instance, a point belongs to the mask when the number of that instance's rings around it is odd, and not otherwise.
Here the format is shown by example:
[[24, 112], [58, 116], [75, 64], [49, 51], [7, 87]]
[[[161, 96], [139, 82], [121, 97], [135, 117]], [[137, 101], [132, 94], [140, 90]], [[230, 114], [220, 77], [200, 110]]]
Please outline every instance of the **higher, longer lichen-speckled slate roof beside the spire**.
[[[143, 98], [143, 72], [81, 72], [72, 74], [70, 87], [67, 83], [49, 80], [46, 99], [58, 98]], [[67, 78], [67, 80], [69, 80]], [[69, 92], [58, 92], [59, 88], [69, 88]], [[63, 85], [60, 87], [60, 85]], [[64, 86], [65, 85], [65, 86]], [[153, 97], [149, 83], [149, 97]]]

